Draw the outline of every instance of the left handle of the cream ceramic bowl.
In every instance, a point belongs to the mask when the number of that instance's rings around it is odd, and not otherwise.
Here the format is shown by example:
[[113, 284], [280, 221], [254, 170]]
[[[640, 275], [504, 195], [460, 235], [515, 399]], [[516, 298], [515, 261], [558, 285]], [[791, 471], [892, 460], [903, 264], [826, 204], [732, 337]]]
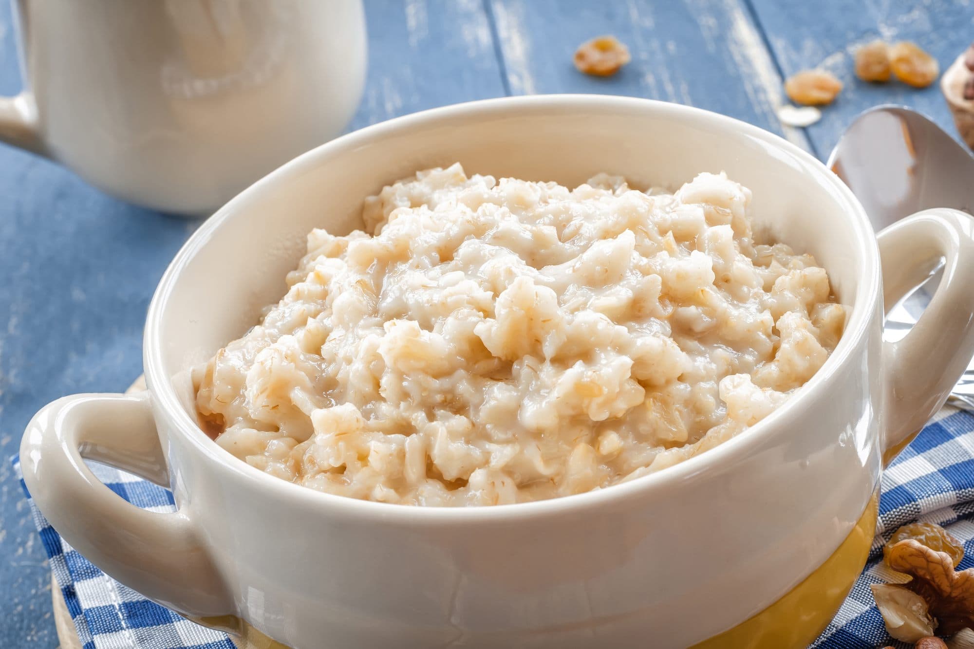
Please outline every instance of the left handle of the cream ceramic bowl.
[[82, 450], [165, 486], [148, 393], [74, 395], [44, 406], [20, 443], [24, 483], [57, 533], [111, 577], [180, 613], [233, 612], [191, 513], [131, 505], [94, 477]]

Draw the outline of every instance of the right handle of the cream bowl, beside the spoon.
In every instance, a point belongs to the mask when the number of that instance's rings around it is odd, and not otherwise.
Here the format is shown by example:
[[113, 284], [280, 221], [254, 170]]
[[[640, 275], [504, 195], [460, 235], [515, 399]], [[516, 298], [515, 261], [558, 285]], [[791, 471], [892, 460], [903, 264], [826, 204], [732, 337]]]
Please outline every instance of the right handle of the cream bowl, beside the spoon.
[[974, 354], [974, 218], [959, 210], [918, 211], [877, 237], [885, 313], [944, 259], [943, 279], [913, 328], [882, 349], [883, 463], [947, 401]]

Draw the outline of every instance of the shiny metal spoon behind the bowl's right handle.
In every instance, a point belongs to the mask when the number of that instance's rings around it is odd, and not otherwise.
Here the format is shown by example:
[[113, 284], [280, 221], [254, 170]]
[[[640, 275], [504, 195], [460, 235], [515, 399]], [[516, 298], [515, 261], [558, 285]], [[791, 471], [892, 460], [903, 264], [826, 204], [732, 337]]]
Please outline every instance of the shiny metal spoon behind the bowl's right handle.
[[[974, 213], [974, 156], [909, 108], [885, 105], [861, 113], [832, 150], [828, 166], [862, 203], [877, 232], [928, 208]], [[917, 323], [939, 282], [938, 268], [890, 310], [887, 340], [902, 338]], [[950, 402], [974, 412], [974, 362]]]

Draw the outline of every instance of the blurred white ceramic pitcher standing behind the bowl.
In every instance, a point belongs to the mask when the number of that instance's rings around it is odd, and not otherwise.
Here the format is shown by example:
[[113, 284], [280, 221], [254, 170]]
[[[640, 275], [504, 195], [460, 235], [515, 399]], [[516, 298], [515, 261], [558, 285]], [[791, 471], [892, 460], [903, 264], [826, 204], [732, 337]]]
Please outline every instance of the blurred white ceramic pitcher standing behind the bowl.
[[24, 90], [0, 140], [156, 210], [207, 214], [339, 134], [361, 0], [16, 0]]

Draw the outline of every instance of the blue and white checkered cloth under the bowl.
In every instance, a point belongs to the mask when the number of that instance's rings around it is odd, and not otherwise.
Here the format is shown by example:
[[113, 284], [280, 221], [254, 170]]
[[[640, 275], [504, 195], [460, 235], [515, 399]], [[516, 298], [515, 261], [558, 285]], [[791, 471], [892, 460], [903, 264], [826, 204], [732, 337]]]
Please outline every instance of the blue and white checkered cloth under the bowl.
[[[16, 457], [14, 466], [20, 476]], [[162, 487], [115, 469], [92, 468], [113, 491], [139, 507], [154, 512], [175, 508]], [[105, 575], [57, 535], [32, 501], [30, 508], [85, 649], [234, 649], [225, 633], [184, 620]], [[869, 586], [890, 578], [881, 561], [882, 544], [900, 525], [917, 519], [947, 527], [964, 543], [966, 556], [959, 568], [974, 565], [974, 415], [945, 408], [883, 474], [869, 564], [812, 646], [909, 646], [886, 634]]]

